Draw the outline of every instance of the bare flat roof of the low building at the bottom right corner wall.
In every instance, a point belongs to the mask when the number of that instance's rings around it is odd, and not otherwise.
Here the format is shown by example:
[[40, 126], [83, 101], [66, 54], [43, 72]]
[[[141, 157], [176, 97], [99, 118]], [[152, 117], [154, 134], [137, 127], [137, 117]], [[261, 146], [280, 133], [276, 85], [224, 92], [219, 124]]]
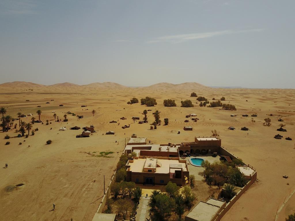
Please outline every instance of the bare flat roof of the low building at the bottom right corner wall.
[[186, 216], [198, 221], [211, 221], [219, 209], [219, 206], [200, 201]]

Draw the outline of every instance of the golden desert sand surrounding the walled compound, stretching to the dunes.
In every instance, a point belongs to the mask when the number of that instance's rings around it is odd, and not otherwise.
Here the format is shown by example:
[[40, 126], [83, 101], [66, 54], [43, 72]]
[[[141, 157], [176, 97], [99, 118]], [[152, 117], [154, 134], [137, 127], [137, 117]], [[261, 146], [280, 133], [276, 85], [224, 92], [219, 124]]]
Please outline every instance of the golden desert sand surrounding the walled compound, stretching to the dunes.
[[[49, 125], [35, 123], [33, 129], [38, 127], [39, 130], [28, 138], [4, 139], [6, 134], [17, 136], [14, 129], [0, 133], [0, 164], [8, 164], [8, 168], [0, 170], [1, 220], [92, 220], [103, 196], [103, 176], [107, 185], [124, 149], [125, 138], [132, 133], [146, 137], [153, 143], [167, 144], [193, 141], [194, 136], [210, 136], [214, 129], [220, 131], [222, 146], [256, 168], [259, 179], [222, 220], [275, 220], [278, 208], [295, 189], [293, 89], [224, 89], [209, 88], [198, 83], [159, 83], [129, 88], [115, 83], [45, 86], [26, 82], [4, 83], [0, 89], [0, 106], [6, 107], [6, 115], [17, 118], [18, 112], [25, 115], [33, 113], [38, 118], [36, 111], [40, 109], [41, 120], [51, 122]], [[226, 101], [223, 103], [234, 104], [237, 111], [199, 107], [196, 98], [190, 97], [191, 92], [206, 97], [209, 102], [212, 102], [212, 98], [224, 96]], [[155, 97], [158, 105], [145, 107], [140, 103], [127, 104], [132, 97], [140, 100], [145, 96]], [[175, 100], [177, 107], [164, 107], [164, 99]], [[181, 100], [186, 99], [192, 100], [195, 106], [181, 108]], [[41, 107], [37, 108], [38, 105]], [[93, 109], [96, 110], [95, 116], [91, 113]], [[145, 109], [159, 110], [162, 122], [164, 118], [169, 118], [169, 124], [150, 130], [153, 111], [148, 112], [149, 123], [133, 123], [132, 116], [142, 119], [141, 113]], [[84, 118], [78, 120], [76, 116], [68, 115], [68, 122], [57, 123], [52, 111], [56, 111], [60, 118], [68, 111]], [[190, 113], [196, 113], [200, 120], [184, 123], [185, 116]], [[230, 117], [233, 113], [237, 116]], [[250, 117], [254, 113], [258, 115], [254, 118], [255, 123]], [[242, 117], [242, 114], [249, 117]], [[279, 116], [284, 120], [287, 132], [276, 131], [281, 123], [278, 122]], [[121, 117], [127, 120], [120, 120]], [[271, 118], [272, 125], [269, 127], [263, 126], [266, 117]], [[22, 120], [29, 122], [30, 118]], [[119, 120], [120, 125], [109, 123], [112, 120]], [[18, 124], [18, 121], [14, 123]], [[125, 124], [130, 124], [130, 128], [122, 129]], [[82, 127], [90, 125], [94, 125], [96, 133], [89, 138], [76, 138], [82, 132]], [[183, 131], [184, 125], [192, 126], [193, 131]], [[59, 131], [62, 126], [68, 130]], [[73, 126], [79, 126], [81, 130], [69, 130]], [[234, 126], [236, 130], [228, 130], [229, 126]], [[250, 130], [241, 131], [240, 128], [244, 126]], [[115, 135], [102, 135], [109, 130], [115, 131]], [[180, 134], [177, 134], [178, 130]], [[273, 138], [278, 133], [283, 135], [281, 140]], [[288, 136], [293, 141], [285, 140]], [[53, 143], [46, 145], [48, 139]], [[4, 145], [6, 141], [11, 144]], [[101, 151], [114, 153], [107, 155], [110, 157], [95, 156]], [[283, 175], [289, 178], [284, 179]], [[13, 188], [19, 183], [24, 185]], [[278, 221], [294, 213], [294, 202], [295, 194], [279, 210]], [[50, 211], [53, 203], [56, 205], [55, 211]]]

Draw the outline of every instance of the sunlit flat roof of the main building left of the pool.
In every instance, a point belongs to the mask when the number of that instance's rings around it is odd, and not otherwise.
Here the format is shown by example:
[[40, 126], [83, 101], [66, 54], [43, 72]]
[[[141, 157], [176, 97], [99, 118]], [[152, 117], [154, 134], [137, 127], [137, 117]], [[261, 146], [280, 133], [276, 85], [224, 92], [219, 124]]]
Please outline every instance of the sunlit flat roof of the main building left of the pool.
[[[188, 169], [186, 168], [186, 164], [185, 163], [180, 163], [179, 160], [168, 160], [168, 159], [154, 159], [153, 161], [150, 160], [150, 158], [147, 159], [134, 159], [133, 163], [129, 162], [128, 166], [130, 166], [130, 171], [132, 172], [142, 172], [143, 167], [145, 166], [145, 164], [149, 164], [153, 162], [155, 162], [155, 164], [157, 164], [157, 161], [161, 164], [160, 167], [156, 168], [156, 172], [154, 173], [163, 173], [163, 174], [168, 174], [170, 171], [174, 172], [175, 170], [179, 170], [179, 169], [183, 169], [183, 171], [188, 171]], [[170, 164], [177, 164], [179, 166], [173, 166], [173, 167], [177, 167], [177, 168], [171, 168], [170, 170]]]

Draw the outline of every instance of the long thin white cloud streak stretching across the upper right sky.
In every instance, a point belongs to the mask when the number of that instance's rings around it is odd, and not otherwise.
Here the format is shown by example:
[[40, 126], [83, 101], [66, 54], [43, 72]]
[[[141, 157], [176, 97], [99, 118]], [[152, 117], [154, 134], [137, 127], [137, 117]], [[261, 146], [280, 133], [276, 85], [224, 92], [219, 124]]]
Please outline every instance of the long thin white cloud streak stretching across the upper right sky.
[[264, 29], [248, 29], [248, 30], [224, 30], [218, 32], [203, 32], [203, 33], [192, 33], [192, 34], [177, 34], [177, 35], [166, 35], [157, 37], [154, 40], [150, 40], [147, 43], [157, 42], [169, 42], [169, 43], [181, 43], [201, 38], [211, 38], [226, 34], [246, 33], [246, 32], [261, 32]]

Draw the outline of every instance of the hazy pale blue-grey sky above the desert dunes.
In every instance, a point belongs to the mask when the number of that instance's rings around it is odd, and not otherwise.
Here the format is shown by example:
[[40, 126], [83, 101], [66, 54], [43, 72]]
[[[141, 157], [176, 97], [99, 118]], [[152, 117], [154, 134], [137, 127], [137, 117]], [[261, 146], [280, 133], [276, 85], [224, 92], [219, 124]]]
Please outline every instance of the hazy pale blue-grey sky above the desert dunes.
[[295, 88], [294, 0], [0, 0], [0, 83]]

